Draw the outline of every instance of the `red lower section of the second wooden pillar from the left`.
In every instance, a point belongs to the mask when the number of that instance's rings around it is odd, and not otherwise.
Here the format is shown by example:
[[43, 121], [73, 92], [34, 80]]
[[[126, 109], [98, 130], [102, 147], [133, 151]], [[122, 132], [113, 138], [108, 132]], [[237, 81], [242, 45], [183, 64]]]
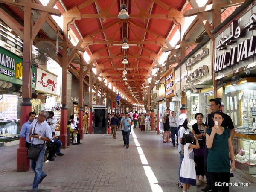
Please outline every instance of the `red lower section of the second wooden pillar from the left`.
[[61, 134], [60, 140], [62, 142], [61, 148], [67, 148], [67, 107], [62, 104], [61, 107]]

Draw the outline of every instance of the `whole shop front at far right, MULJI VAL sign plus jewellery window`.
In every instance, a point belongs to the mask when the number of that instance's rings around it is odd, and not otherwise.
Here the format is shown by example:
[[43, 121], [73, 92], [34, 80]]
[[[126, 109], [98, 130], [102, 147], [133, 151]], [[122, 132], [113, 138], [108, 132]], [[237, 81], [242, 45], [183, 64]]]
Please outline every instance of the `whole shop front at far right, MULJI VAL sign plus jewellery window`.
[[235, 126], [236, 168], [256, 174], [256, 6], [215, 37], [217, 95]]

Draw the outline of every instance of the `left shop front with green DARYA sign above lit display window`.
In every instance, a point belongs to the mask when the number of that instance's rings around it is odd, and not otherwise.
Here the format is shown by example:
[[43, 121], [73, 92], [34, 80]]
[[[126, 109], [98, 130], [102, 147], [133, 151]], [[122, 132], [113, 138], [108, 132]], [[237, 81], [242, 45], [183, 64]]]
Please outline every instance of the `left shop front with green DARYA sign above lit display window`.
[[[0, 142], [19, 138], [22, 63], [22, 58], [0, 47]], [[35, 88], [34, 67], [32, 72], [32, 88]]]

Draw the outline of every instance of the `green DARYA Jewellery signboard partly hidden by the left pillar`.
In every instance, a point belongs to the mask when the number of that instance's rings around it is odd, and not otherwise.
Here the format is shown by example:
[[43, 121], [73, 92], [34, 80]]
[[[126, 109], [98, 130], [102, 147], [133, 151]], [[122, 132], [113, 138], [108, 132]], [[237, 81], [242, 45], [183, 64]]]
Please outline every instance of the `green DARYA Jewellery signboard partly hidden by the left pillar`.
[[[32, 66], [32, 88], [35, 88], [35, 66]], [[0, 80], [22, 85], [23, 59], [0, 47]]]

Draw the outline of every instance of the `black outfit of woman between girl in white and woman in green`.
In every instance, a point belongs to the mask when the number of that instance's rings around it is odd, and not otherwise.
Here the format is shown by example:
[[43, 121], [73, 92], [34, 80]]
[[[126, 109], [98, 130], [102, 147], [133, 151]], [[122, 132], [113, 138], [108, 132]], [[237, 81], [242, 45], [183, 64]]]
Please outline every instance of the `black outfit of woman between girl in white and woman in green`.
[[[204, 133], [204, 123], [202, 126], [203, 129], [200, 130], [200, 128], [198, 128], [198, 124], [195, 123], [194, 125], [192, 125], [192, 129], [195, 131], [195, 134], [202, 134]], [[196, 163], [195, 166], [195, 172], [196, 175], [204, 175], [204, 144], [205, 144], [205, 137], [199, 137], [198, 138], [198, 143], [200, 146], [200, 149], [194, 149], [194, 161]]]

